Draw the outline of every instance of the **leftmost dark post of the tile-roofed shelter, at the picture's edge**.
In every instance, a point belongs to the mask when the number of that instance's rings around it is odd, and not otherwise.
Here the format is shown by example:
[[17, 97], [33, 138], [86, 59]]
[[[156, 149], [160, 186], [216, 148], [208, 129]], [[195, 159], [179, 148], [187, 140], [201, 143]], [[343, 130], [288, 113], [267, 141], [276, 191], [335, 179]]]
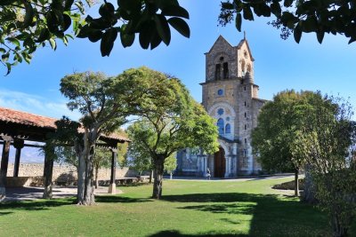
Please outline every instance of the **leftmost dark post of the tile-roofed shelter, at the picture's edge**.
[[7, 167], [9, 165], [9, 153], [10, 153], [10, 137], [3, 137], [3, 154], [1, 157], [1, 168], [0, 168], [0, 202], [6, 197], [6, 176], [7, 176]]

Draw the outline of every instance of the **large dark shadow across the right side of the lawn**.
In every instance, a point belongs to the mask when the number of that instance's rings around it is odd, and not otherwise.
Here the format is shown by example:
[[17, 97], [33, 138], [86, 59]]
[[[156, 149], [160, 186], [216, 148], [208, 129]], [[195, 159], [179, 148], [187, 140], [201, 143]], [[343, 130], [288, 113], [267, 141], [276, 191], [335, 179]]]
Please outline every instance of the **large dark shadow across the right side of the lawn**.
[[[328, 217], [296, 198], [283, 198], [276, 194], [225, 193], [166, 195], [162, 199], [187, 204], [177, 209], [227, 214], [221, 220], [235, 226], [239, 225], [238, 215], [251, 216], [249, 236], [330, 236]], [[197, 205], [197, 202], [201, 204]], [[164, 236], [159, 234], [152, 236]], [[179, 234], [175, 236], [189, 236]], [[209, 234], [202, 236], [220, 236]]]

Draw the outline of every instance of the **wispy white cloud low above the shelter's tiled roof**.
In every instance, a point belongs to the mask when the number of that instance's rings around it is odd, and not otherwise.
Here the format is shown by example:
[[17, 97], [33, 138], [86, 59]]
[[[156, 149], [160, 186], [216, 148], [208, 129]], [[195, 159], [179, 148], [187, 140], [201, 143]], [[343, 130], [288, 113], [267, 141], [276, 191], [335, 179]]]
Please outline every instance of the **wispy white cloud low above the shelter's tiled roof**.
[[36, 115], [61, 118], [62, 115], [78, 120], [80, 113], [70, 111], [65, 101], [51, 101], [37, 95], [20, 91], [0, 90], [0, 107], [8, 107]]

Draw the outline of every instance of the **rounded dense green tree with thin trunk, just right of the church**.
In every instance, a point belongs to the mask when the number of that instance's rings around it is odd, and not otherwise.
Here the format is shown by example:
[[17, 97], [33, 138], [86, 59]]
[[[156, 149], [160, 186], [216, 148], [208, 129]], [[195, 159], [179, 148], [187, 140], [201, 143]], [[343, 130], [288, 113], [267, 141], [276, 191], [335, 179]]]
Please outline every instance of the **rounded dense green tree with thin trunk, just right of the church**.
[[264, 170], [295, 172], [295, 196], [298, 191], [298, 173], [303, 168], [293, 153], [295, 136], [303, 128], [306, 108], [322, 100], [310, 91], [282, 91], [267, 102], [258, 115], [257, 127], [252, 132], [252, 146]]

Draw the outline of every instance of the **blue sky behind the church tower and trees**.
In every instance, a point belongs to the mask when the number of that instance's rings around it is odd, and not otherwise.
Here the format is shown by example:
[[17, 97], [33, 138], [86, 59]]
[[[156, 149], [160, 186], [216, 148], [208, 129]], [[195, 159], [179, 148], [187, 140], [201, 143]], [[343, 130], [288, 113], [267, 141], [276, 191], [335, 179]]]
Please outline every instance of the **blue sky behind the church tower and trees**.
[[[23, 63], [13, 67], [10, 75], [1, 76], [6, 70], [0, 67], [0, 107], [77, 119], [79, 114], [66, 108], [67, 100], [59, 91], [64, 75], [86, 70], [117, 75], [126, 68], [140, 66], [177, 76], [200, 102], [199, 83], [205, 81], [204, 53], [218, 36], [237, 45], [243, 33], [239, 33], [234, 24], [217, 27], [220, 1], [183, 0], [180, 3], [190, 12], [190, 39], [174, 32], [169, 46], [161, 44], [154, 51], [142, 50], [137, 40], [133, 47], [126, 49], [117, 41], [109, 58], [101, 57], [99, 43], [90, 43], [87, 39], [75, 39], [67, 47], [58, 42], [57, 51], [49, 46], [38, 49], [30, 65]], [[293, 37], [283, 41], [279, 30], [266, 24], [268, 20], [271, 19], [242, 24], [255, 58], [255, 83], [260, 86], [260, 98], [272, 99], [274, 94], [286, 89], [320, 90], [349, 98], [356, 107], [352, 63], [356, 43], [349, 45], [344, 36], [327, 35], [320, 44], [315, 34], [303, 34], [299, 44]]]

